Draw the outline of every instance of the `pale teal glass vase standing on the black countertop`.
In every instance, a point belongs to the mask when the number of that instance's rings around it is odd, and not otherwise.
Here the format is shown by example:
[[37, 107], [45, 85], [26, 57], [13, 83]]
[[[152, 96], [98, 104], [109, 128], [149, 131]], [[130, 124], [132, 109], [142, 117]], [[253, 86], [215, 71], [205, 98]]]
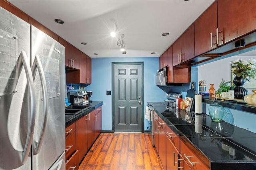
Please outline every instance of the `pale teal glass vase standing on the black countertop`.
[[212, 102], [209, 106], [209, 115], [213, 122], [221, 122], [224, 115], [224, 107], [217, 102]]

